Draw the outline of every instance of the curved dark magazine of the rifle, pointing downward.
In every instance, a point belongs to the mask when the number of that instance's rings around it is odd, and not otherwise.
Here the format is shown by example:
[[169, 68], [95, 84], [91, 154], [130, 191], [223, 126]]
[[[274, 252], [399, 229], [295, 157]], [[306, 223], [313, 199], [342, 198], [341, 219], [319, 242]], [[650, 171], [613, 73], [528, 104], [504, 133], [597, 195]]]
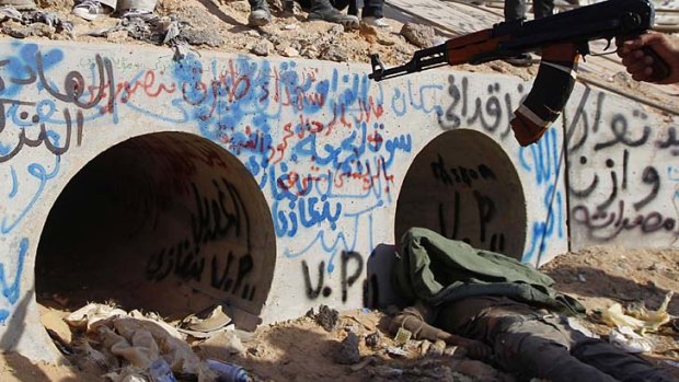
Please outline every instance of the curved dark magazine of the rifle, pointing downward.
[[509, 121], [519, 144], [537, 142], [559, 118], [575, 84], [578, 56], [577, 47], [569, 43], [542, 48], [533, 86]]

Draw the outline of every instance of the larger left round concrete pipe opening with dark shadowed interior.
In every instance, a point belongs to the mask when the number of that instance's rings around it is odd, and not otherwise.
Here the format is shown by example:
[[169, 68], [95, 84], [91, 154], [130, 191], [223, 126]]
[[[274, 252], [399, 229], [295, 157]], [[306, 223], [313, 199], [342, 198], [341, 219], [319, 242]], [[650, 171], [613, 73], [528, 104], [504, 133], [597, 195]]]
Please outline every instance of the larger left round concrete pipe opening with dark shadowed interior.
[[141, 136], [96, 157], [59, 195], [36, 293], [70, 311], [113, 301], [172, 320], [219, 303], [253, 328], [275, 245], [268, 205], [238, 159], [188, 134]]

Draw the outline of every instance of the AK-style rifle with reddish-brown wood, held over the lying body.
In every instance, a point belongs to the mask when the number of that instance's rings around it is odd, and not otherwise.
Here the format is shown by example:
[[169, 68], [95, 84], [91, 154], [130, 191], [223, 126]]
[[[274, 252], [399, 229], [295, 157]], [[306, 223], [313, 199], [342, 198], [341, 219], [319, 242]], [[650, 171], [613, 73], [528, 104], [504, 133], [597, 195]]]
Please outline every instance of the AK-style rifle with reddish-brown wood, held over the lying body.
[[[533, 21], [510, 21], [492, 28], [448, 39], [415, 51], [405, 65], [385, 69], [370, 55], [375, 81], [442, 65], [483, 63], [538, 51], [542, 56], [530, 93], [510, 121], [521, 146], [537, 142], [564, 108], [576, 79], [578, 57], [589, 54], [594, 39], [632, 38], [653, 27], [655, 10], [648, 0], [609, 0]], [[607, 47], [608, 48], [608, 47]], [[651, 48], [657, 79], [669, 67]], [[655, 77], [655, 76], [654, 76]]]

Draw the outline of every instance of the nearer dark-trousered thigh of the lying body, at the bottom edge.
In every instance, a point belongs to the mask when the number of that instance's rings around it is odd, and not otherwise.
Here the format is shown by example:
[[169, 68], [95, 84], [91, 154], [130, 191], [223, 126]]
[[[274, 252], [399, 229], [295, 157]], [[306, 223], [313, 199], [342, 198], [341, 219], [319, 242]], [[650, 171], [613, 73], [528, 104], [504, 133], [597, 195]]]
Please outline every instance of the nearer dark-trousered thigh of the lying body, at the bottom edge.
[[495, 336], [497, 363], [526, 378], [551, 382], [614, 382], [613, 377], [584, 363], [569, 352], [571, 338], [542, 321], [520, 321]]

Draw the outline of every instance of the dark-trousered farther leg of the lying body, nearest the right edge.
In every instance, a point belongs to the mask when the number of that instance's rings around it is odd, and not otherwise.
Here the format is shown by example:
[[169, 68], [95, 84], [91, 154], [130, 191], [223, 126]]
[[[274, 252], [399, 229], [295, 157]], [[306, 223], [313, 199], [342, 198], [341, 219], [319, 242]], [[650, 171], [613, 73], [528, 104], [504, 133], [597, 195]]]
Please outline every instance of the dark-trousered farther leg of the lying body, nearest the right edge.
[[623, 382], [671, 382], [668, 373], [656, 369], [641, 357], [624, 352], [596, 338], [577, 336], [572, 354], [580, 361]]

